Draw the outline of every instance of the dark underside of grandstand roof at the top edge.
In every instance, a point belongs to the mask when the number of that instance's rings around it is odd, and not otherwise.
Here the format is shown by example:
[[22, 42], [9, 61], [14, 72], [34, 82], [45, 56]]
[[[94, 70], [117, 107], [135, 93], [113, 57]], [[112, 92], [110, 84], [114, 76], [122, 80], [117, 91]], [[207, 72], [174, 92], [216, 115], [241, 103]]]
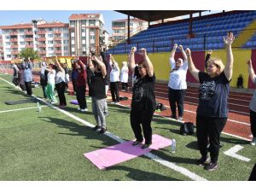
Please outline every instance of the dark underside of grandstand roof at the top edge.
[[202, 12], [202, 10], [116, 10], [141, 20], [155, 21]]

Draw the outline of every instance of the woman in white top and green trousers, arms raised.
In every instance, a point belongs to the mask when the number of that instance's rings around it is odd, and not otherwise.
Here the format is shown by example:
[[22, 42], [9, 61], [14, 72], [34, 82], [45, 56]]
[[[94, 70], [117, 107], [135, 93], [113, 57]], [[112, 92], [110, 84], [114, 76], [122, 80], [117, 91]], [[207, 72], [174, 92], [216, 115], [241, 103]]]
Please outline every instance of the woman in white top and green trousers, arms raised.
[[47, 74], [47, 86], [46, 86], [46, 95], [50, 103], [56, 103], [57, 99], [55, 97], [55, 64], [50, 63], [49, 68], [46, 68], [49, 73]]

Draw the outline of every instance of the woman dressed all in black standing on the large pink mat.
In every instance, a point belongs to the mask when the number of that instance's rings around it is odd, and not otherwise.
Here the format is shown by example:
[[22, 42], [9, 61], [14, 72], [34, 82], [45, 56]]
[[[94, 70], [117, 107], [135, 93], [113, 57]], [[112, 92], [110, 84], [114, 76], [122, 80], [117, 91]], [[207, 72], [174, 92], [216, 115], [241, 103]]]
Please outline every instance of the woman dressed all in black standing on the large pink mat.
[[[132, 88], [130, 120], [136, 142], [132, 145], [137, 146], [143, 143], [144, 135], [145, 143], [142, 148], [148, 148], [152, 144], [151, 120], [156, 106], [154, 96], [154, 67], [148, 58], [146, 49], [140, 49], [140, 55], [143, 55], [143, 61], [136, 66], [135, 52], [136, 47], [132, 47], [129, 57], [129, 67], [131, 67], [131, 71], [135, 76]], [[141, 124], [143, 126], [143, 134]]]

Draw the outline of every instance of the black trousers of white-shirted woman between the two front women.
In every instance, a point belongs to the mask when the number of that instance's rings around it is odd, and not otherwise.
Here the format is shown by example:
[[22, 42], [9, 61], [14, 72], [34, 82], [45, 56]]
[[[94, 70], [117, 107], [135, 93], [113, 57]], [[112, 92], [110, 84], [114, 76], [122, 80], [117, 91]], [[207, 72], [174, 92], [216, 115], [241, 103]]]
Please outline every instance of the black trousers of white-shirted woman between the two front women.
[[177, 107], [177, 112], [179, 117], [183, 117], [184, 113], [184, 96], [185, 96], [186, 90], [173, 90], [172, 88], [169, 87], [168, 90], [168, 98], [169, 98], [169, 103], [170, 103], [170, 108], [172, 111], [172, 116], [176, 116], [176, 107]]

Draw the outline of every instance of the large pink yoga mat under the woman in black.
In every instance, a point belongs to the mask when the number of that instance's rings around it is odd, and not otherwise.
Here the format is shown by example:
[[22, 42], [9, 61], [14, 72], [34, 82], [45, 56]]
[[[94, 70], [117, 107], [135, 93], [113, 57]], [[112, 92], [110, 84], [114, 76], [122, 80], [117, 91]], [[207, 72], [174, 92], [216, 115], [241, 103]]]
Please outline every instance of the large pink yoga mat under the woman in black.
[[84, 156], [89, 159], [99, 169], [107, 168], [126, 160], [131, 160], [142, 154], [147, 154], [152, 149], [165, 148], [172, 144], [171, 139], [159, 135], [152, 136], [152, 145], [149, 148], [142, 149], [142, 145], [132, 146], [134, 141], [119, 143], [108, 148], [102, 148], [91, 151]]

